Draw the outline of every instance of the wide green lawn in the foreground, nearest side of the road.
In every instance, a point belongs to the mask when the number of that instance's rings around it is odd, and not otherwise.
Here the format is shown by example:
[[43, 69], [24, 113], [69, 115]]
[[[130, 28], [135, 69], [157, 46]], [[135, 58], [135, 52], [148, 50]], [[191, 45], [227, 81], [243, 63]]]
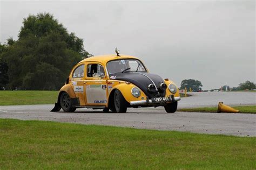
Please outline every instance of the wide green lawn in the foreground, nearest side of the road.
[[0, 119], [0, 169], [255, 169], [256, 138]]

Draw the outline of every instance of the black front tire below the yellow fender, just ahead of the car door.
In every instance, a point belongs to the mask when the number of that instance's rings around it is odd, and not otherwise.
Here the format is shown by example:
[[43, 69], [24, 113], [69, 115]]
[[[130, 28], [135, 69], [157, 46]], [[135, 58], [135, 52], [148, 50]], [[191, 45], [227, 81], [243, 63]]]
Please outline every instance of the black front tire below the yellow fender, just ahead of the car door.
[[114, 91], [114, 108], [117, 113], [125, 113], [127, 110], [126, 100], [119, 90]]

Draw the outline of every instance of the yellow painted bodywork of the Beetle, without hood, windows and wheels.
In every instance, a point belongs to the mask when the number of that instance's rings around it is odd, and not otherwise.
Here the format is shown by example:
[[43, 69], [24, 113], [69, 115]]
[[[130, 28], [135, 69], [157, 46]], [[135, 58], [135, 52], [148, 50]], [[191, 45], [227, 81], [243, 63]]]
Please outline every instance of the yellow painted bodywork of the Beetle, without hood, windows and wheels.
[[[82, 61], [80, 61], [73, 69], [71, 70], [71, 73], [69, 75], [69, 79], [67, 80], [66, 84], [60, 89], [59, 91], [59, 96], [63, 91], [69, 94], [70, 98], [78, 98], [79, 99], [79, 104], [78, 107], [92, 107], [93, 106], [104, 106], [108, 107], [109, 106], [109, 101], [110, 101], [110, 96], [111, 96], [111, 91], [114, 89], [118, 89], [122, 95], [124, 96], [125, 100], [127, 102], [131, 101], [141, 101], [141, 100], [146, 100], [146, 95], [143, 93], [142, 90], [140, 90], [141, 95], [139, 97], [134, 97], [131, 93], [131, 90], [133, 87], [136, 87], [134, 84], [130, 82], [125, 82], [121, 80], [112, 80], [109, 77], [109, 74], [107, 73], [106, 70], [106, 64], [108, 61], [111, 60], [117, 60], [117, 59], [137, 59], [138, 58], [130, 55], [100, 55], [100, 56], [93, 56], [90, 58], [86, 58]], [[141, 61], [141, 60], [139, 60]], [[142, 61], [141, 61], [142, 62]], [[104, 77], [87, 77], [87, 65], [89, 64], [99, 64], [102, 65], [105, 71], [105, 76]], [[143, 62], [142, 62], [143, 63]], [[73, 72], [74, 70], [78, 67], [84, 65], [84, 77], [82, 78], [73, 78]], [[144, 65], [145, 66], [145, 65]], [[145, 67], [146, 68], [146, 67]], [[147, 68], [146, 68], [147, 70]], [[147, 72], [149, 72], [147, 70]], [[170, 80], [165, 80], [165, 83], [167, 84], [174, 84]], [[175, 84], [174, 84], [175, 85]], [[83, 87], [83, 90], [82, 90]], [[102, 91], [93, 91], [94, 88], [102, 88]], [[177, 87], [177, 86], [176, 86]], [[77, 88], [80, 88], [80, 90]], [[176, 94], [172, 94], [168, 88], [166, 89], [166, 97], [174, 95], [174, 97], [179, 96], [179, 90], [177, 88]], [[92, 101], [92, 98], [97, 98], [99, 96], [99, 100]], [[58, 98], [59, 101], [59, 98]]]

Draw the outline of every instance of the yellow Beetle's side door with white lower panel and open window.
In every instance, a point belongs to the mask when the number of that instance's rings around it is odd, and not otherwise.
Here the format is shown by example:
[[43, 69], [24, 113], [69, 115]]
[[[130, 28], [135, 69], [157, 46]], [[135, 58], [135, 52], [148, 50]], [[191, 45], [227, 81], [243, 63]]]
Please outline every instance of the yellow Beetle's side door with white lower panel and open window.
[[107, 104], [107, 76], [102, 64], [87, 63], [84, 89], [86, 105]]

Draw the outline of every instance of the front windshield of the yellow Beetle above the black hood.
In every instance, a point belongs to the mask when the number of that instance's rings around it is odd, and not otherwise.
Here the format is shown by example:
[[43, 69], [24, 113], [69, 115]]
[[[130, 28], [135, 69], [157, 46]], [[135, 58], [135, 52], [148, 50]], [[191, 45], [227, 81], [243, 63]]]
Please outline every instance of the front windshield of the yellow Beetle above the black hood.
[[146, 72], [143, 63], [137, 59], [113, 60], [107, 63], [109, 74], [122, 72]]

